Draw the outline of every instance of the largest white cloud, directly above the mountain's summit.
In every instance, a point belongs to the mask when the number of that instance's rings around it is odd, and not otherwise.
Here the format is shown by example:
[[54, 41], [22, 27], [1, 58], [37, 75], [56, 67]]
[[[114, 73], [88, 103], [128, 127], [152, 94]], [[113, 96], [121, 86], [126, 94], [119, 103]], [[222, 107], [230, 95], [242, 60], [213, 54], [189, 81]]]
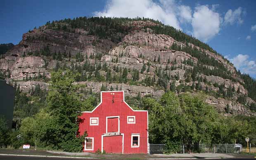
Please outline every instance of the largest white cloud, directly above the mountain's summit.
[[181, 29], [176, 16], [173, 0], [161, 0], [160, 4], [152, 0], [109, 0], [102, 12], [95, 12], [95, 16], [110, 17], [149, 17]]

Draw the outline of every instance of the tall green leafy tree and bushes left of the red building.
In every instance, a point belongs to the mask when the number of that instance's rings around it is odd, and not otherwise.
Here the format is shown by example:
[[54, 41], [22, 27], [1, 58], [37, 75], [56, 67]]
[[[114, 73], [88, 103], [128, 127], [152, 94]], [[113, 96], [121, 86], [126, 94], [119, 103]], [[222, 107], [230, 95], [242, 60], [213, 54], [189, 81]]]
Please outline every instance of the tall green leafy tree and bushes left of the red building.
[[[25, 118], [21, 124], [21, 133], [29, 144], [40, 144], [52, 149], [63, 151], [82, 151], [84, 136], [76, 136], [78, 125], [77, 111], [86, 108], [89, 102], [82, 102], [81, 97], [72, 94], [76, 86], [76, 74], [67, 70], [65, 73], [59, 70], [52, 72], [50, 91], [47, 95], [47, 107], [41, 109], [33, 118]], [[60, 92], [63, 91], [63, 92]], [[90, 107], [89, 107], [90, 108]]]

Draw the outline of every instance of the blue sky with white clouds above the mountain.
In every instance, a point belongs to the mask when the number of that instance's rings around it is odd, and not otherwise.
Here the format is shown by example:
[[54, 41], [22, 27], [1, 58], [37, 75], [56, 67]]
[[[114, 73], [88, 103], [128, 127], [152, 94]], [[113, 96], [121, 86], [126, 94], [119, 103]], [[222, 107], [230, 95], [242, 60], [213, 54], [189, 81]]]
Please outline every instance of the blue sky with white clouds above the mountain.
[[149, 17], [206, 42], [256, 78], [256, 0], [1, 0], [0, 43], [47, 21], [79, 16]]

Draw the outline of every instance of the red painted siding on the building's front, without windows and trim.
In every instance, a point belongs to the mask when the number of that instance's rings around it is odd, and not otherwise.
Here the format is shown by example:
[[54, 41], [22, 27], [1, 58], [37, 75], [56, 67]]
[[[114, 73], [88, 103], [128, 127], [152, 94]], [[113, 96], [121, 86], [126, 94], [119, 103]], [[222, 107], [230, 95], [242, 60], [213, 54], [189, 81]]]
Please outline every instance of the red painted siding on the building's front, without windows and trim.
[[[88, 137], [94, 137], [93, 151], [85, 152], [95, 152], [97, 149], [102, 150], [102, 147], [105, 151], [110, 151], [110, 148], [107, 147], [107, 144], [109, 143], [108, 140], [103, 140], [102, 146], [102, 139], [106, 138], [105, 136], [102, 137], [102, 135], [106, 134], [106, 130], [108, 130], [108, 132], [116, 131], [116, 126], [118, 126], [118, 118], [107, 118], [108, 122], [106, 122], [106, 117], [119, 116], [120, 134], [123, 134], [123, 147], [122, 144], [119, 143], [120, 141], [114, 142], [116, 146], [122, 148], [123, 153], [148, 153], [147, 111], [133, 111], [133, 109], [130, 108], [124, 101], [123, 91], [101, 92], [101, 96], [102, 102], [92, 112], [83, 112], [79, 117], [82, 122], [79, 124], [78, 132], [83, 134], [85, 131], [87, 131]], [[135, 116], [135, 124], [128, 124], [127, 116]], [[99, 118], [99, 125], [90, 125], [90, 118], [92, 117]], [[140, 146], [137, 148], [131, 147], [132, 134], [140, 135]]]

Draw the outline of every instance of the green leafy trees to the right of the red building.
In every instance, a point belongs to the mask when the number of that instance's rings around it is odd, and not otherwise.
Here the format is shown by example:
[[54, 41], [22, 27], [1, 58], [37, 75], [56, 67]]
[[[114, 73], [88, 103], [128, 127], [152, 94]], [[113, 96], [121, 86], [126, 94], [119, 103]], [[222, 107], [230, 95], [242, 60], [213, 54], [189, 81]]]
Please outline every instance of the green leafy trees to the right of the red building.
[[[166, 144], [167, 153], [179, 151], [185, 144], [243, 143], [244, 137], [254, 138], [253, 122], [222, 117], [204, 103], [204, 95], [163, 94], [159, 101], [143, 99], [143, 108], [149, 111], [149, 140], [153, 144]], [[249, 120], [249, 118], [248, 118]]]

